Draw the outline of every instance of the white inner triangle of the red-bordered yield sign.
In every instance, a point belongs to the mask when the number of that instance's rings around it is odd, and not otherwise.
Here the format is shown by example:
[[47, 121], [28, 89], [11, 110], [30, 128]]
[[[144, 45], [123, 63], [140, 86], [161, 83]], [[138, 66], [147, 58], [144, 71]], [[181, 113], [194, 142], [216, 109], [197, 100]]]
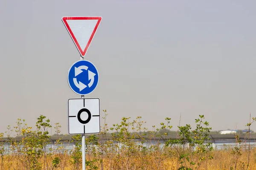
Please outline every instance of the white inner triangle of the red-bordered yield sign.
[[98, 20], [67, 20], [81, 50], [84, 51]]

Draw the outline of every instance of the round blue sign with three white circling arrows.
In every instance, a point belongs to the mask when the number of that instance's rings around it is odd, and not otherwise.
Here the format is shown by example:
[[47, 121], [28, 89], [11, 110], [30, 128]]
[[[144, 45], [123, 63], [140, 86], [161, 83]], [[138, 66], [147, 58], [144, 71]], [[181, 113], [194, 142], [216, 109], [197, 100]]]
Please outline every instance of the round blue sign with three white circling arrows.
[[67, 82], [76, 94], [90, 94], [99, 82], [97, 68], [87, 60], [79, 60], [70, 67]]

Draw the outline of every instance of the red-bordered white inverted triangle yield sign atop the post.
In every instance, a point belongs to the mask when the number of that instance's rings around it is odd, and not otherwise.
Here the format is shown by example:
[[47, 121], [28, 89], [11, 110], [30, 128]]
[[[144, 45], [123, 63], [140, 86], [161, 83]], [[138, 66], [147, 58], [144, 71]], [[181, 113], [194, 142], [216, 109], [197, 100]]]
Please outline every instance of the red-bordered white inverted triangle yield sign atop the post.
[[101, 20], [102, 17], [62, 17], [81, 57], [85, 56]]

